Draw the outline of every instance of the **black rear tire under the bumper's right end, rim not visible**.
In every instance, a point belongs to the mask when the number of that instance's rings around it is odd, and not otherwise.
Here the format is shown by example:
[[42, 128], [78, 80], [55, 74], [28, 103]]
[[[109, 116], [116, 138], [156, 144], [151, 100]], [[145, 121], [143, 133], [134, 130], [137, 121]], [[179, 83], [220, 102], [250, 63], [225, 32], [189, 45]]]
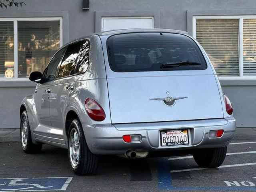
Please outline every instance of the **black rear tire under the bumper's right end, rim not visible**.
[[202, 168], [217, 168], [223, 163], [226, 157], [226, 152], [227, 146], [221, 148], [204, 149], [200, 154], [195, 154], [193, 157], [198, 166]]

